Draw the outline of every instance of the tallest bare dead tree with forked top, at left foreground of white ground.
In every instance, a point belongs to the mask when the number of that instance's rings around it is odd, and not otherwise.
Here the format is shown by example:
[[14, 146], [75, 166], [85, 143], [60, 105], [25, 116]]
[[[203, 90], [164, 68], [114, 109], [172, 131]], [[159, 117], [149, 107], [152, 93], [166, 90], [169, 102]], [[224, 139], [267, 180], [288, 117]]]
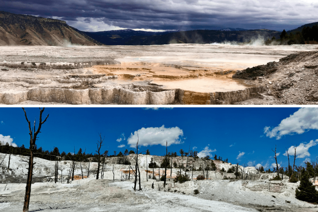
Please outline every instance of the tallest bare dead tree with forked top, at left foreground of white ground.
[[31, 129], [31, 122], [28, 120], [28, 117], [26, 116], [26, 112], [24, 110], [24, 107], [22, 107], [25, 115], [25, 119], [27, 120], [29, 124], [29, 135], [30, 135], [30, 158], [29, 158], [29, 168], [28, 168], [28, 177], [26, 181], [26, 187], [25, 187], [25, 196], [24, 196], [24, 205], [23, 205], [23, 212], [29, 212], [29, 204], [30, 204], [30, 195], [31, 195], [31, 182], [32, 182], [32, 174], [33, 174], [33, 158], [34, 158], [34, 147], [35, 147], [35, 141], [37, 140], [38, 133], [40, 133], [40, 129], [42, 124], [46, 121], [46, 119], [49, 117], [49, 114], [46, 116], [45, 120], [42, 121], [42, 113], [44, 111], [44, 107], [42, 110], [40, 109], [40, 117], [39, 117], [39, 126], [38, 130], [35, 131], [35, 124], [36, 120], [34, 120], [33, 127]]

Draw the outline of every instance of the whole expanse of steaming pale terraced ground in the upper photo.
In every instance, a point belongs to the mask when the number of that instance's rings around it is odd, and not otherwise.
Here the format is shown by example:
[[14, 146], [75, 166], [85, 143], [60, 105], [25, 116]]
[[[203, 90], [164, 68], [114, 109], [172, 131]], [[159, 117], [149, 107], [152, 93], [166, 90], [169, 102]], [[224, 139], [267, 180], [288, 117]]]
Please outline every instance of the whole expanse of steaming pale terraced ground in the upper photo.
[[[315, 58], [301, 53], [315, 49], [316, 45], [224, 44], [3, 46], [0, 47], [0, 104], [164, 105], [233, 104], [238, 101], [238, 104], [315, 104], [314, 91], [306, 91], [311, 87], [302, 84], [309, 83], [307, 77], [315, 75], [306, 73], [307, 62], [315, 62]], [[289, 60], [278, 62], [292, 53], [301, 55], [291, 59], [292, 63]], [[302, 62], [296, 64], [298, 60]], [[245, 82], [232, 78], [237, 70], [240, 72], [270, 61], [278, 62], [279, 66], [272, 73], [273, 79], [268, 78], [272, 76], [268, 74], [258, 75], [263, 77], [258, 79], [242, 78]], [[295, 81], [286, 80], [285, 72], [295, 73], [289, 78], [297, 80], [299, 87], [295, 86]], [[242, 72], [240, 76], [243, 75]], [[294, 86], [289, 88], [289, 93], [276, 92], [288, 89], [290, 83]], [[313, 81], [309, 84], [314, 85]], [[151, 93], [154, 87], [156, 94]], [[246, 91], [250, 87], [257, 89]], [[110, 92], [105, 94], [105, 90]], [[298, 92], [301, 98], [297, 99]], [[96, 96], [96, 93], [99, 94]], [[293, 93], [294, 98], [290, 98]], [[255, 97], [259, 99], [251, 99]]]

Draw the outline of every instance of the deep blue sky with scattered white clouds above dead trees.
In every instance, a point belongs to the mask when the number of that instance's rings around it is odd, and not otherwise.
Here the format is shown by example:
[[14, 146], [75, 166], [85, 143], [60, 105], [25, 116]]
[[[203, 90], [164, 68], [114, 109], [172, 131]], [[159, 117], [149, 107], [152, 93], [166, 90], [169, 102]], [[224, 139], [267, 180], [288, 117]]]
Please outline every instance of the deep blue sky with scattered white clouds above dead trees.
[[[38, 122], [39, 108], [25, 108], [28, 119]], [[272, 148], [277, 145], [278, 162], [288, 165], [286, 148], [296, 164], [314, 160], [318, 150], [318, 108], [139, 108], [139, 107], [46, 107], [50, 114], [42, 125], [37, 146], [45, 150], [73, 152], [81, 147], [95, 152], [98, 133], [105, 136], [102, 152], [135, 150], [163, 155], [168, 151], [194, 148], [201, 156], [228, 158], [229, 162], [261, 164], [272, 169]], [[44, 118], [44, 117], [43, 117]], [[28, 124], [21, 108], [0, 108], [0, 140], [29, 147]], [[122, 146], [122, 147], [121, 147]], [[291, 159], [292, 160], [292, 159]]]

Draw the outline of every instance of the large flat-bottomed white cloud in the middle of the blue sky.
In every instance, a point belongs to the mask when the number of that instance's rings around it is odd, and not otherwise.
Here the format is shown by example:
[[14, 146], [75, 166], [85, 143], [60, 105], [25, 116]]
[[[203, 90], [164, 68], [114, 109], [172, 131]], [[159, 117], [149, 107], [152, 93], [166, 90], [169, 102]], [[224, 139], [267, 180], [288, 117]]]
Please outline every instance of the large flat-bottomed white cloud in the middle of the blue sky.
[[166, 141], [168, 141], [168, 146], [171, 144], [181, 144], [183, 143], [182, 136], [183, 131], [179, 127], [166, 128], [164, 125], [161, 127], [142, 127], [129, 136], [127, 139], [130, 147], [135, 147], [137, 143], [137, 133], [139, 135], [139, 146], [151, 146], [151, 145], [162, 145], [166, 146]]

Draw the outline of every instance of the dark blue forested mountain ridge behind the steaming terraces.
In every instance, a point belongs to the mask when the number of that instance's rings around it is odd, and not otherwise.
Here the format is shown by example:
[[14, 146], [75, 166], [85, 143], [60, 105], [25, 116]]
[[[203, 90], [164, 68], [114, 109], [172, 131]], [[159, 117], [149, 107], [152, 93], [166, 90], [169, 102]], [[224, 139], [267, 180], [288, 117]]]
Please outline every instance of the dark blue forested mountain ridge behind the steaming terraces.
[[[85, 32], [86, 35], [105, 45], [162, 45], [162, 44], [211, 44], [228, 41], [249, 42], [258, 38], [271, 39], [279, 36], [280, 32], [274, 30], [257, 29], [242, 31], [218, 30], [191, 30], [178, 32], [162, 32], [150, 35], [142, 31], [117, 31], [117, 32]], [[137, 35], [133, 34], [137, 33]]]

